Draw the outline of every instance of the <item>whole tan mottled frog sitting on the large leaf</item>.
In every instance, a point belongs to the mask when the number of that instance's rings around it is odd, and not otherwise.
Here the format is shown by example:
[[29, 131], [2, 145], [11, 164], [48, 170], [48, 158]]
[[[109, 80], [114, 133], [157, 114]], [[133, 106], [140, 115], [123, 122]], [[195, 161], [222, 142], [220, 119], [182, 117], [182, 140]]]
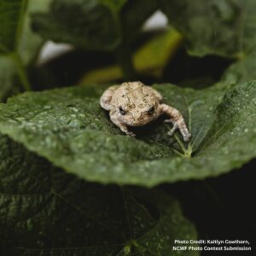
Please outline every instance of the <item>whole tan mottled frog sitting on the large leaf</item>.
[[100, 104], [102, 108], [109, 111], [110, 119], [121, 131], [127, 135], [136, 135], [128, 130], [129, 126], [143, 126], [157, 119], [161, 114], [166, 113], [169, 119], [165, 122], [172, 123], [172, 136], [174, 131], [179, 129], [183, 135], [183, 141], [189, 142], [191, 134], [184, 122], [183, 116], [177, 111], [162, 103], [163, 97], [157, 90], [144, 85], [141, 82], [129, 82], [120, 85], [113, 85], [105, 90]]

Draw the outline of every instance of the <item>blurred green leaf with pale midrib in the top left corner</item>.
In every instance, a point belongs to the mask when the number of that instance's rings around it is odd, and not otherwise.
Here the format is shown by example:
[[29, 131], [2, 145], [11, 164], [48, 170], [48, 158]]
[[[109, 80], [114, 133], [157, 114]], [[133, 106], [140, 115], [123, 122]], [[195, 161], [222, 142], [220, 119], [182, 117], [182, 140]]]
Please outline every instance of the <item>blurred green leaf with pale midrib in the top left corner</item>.
[[0, 101], [18, 91], [30, 89], [26, 67], [35, 60], [42, 38], [32, 32], [30, 14], [44, 11], [49, 0], [3, 0], [0, 2]]

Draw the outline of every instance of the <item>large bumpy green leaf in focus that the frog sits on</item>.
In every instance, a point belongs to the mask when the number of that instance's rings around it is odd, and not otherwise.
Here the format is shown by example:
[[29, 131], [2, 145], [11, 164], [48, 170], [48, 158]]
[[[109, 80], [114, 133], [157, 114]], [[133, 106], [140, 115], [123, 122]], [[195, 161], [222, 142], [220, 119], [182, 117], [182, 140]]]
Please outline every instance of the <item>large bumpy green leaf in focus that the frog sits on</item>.
[[256, 83], [227, 91], [155, 88], [183, 113], [192, 132], [189, 145], [178, 134], [168, 137], [171, 126], [161, 119], [136, 138], [126, 137], [83, 87], [11, 98], [0, 107], [0, 132], [67, 172], [100, 183], [154, 186], [212, 177], [256, 155]]

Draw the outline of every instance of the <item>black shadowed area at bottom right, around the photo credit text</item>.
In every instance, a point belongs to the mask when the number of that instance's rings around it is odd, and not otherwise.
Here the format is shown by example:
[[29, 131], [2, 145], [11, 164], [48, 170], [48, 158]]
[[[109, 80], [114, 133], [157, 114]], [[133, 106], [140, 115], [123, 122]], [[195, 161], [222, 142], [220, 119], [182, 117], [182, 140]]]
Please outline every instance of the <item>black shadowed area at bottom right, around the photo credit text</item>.
[[[255, 169], [256, 160], [251, 160], [241, 169], [221, 177], [166, 184], [162, 188], [182, 202], [183, 212], [196, 224], [199, 239], [248, 240], [253, 248], [256, 234]], [[236, 253], [250, 254], [232, 252], [232, 255]], [[221, 252], [210, 254], [220, 255]]]

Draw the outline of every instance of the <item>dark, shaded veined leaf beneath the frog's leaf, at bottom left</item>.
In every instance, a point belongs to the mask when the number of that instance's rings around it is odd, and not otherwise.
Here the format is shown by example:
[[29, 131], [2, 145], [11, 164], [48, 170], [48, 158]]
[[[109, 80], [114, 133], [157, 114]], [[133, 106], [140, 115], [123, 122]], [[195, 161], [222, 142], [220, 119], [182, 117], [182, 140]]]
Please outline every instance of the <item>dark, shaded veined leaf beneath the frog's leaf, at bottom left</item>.
[[8, 137], [0, 143], [3, 255], [199, 255], [172, 252], [196, 231], [162, 192], [85, 183]]

